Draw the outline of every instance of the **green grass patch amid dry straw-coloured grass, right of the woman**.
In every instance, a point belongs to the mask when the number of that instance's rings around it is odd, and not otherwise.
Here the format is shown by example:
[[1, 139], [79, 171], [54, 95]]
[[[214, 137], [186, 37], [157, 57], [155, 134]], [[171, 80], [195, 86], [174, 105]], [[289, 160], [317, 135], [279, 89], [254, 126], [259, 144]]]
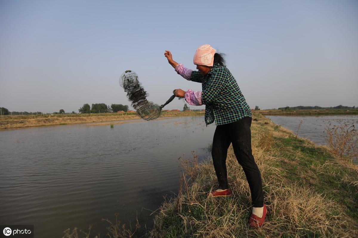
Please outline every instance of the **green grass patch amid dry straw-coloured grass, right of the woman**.
[[[274, 155], [285, 158], [280, 160], [280, 166], [285, 168], [285, 179], [325, 194], [341, 205], [350, 217], [358, 220], [357, 186], [342, 181], [345, 176], [357, 179], [354, 171], [338, 164], [325, 148], [294, 136], [275, 138], [275, 147]], [[292, 163], [287, 164], [286, 159]]]

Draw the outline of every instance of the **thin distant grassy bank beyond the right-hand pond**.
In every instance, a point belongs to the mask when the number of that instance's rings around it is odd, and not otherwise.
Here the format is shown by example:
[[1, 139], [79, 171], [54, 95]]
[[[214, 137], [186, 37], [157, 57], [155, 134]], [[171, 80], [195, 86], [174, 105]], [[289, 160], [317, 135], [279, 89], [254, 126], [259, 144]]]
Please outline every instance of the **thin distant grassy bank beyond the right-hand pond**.
[[255, 113], [260, 113], [262, 115], [358, 115], [358, 109], [310, 109], [310, 110], [257, 110]]

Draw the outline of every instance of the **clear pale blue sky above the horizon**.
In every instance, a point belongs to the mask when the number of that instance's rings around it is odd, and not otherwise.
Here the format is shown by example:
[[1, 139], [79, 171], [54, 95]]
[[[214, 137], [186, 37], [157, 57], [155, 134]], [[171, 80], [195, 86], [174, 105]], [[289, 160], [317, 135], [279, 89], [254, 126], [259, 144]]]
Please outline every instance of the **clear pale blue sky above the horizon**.
[[358, 106], [357, 0], [0, 0], [0, 32], [0, 106], [10, 111], [130, 105], [118, 83], [126, 69], [162, 104], [175, 88], [201, 90], [164, 50], [195, 69], [202, 44], [227, 55], [252, 108]]

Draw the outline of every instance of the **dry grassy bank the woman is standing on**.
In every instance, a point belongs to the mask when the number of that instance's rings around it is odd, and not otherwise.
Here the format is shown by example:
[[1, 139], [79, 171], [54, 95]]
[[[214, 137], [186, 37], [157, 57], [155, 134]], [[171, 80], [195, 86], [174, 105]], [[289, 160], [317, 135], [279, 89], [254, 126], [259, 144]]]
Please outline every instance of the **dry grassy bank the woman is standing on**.
[[248, 228], [250, 190], [230, 148], [233, 195], [208, 197], [217, 188], [212, 162], [182, 159], [178, 196], [163, 204], [150, 237], [358, 237], [358, 166], [254, 117], [252, 150], [268, 209], [262, 228]]

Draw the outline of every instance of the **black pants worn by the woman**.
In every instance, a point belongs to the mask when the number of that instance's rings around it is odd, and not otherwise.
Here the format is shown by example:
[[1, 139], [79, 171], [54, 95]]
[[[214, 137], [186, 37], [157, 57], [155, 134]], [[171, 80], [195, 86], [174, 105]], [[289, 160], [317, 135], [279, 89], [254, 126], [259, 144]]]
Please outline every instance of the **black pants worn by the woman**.
[[245, 172], [251, 190], [253, 207], [263, 206], [263, 192], [260, 171], [251, 150], [251, 117], [216, 127], [213, 139], [212, 157], [216, 176], [221, 189], [227, 189], [226, 156], [232, 143], [237, 161]]

